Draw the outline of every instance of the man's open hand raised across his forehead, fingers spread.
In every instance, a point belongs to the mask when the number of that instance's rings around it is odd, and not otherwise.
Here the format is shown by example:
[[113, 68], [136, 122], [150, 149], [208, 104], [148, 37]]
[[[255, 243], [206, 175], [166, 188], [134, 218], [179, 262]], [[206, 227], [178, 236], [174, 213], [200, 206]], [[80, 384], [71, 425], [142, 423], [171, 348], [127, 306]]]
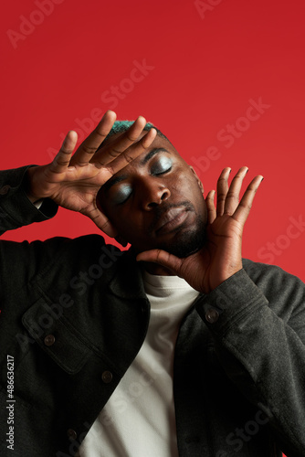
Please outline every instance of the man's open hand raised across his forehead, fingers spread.
[[97, 151], [115, 120], [115, 112], [106, 112], [73, 155], [78, 135], [70, 131], [51, 164], [28, 168], [26, 188], [27, 197], [32, 202], [51, 198], [60, 207], [88, 216], [110, 237], [114, 237], [116, 231], [97, 207], [99, 189], [112, 175], [141, 155], [156, 136], [155, 129], [151, 129], [136, 142], [146, 124], [139, 116], [128, 131]]

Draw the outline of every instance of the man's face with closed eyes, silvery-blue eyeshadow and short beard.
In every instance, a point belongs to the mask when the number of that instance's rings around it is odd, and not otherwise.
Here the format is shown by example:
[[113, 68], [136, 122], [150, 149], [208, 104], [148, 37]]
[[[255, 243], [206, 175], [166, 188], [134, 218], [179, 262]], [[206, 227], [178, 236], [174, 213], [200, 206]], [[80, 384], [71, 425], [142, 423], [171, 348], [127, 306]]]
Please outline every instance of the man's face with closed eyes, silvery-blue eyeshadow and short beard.
[[186, 257], [204, 244], [201, 183], [174, 146], [158, 135], [100, 188], [98, 204], [136, 253], [160, 248]]

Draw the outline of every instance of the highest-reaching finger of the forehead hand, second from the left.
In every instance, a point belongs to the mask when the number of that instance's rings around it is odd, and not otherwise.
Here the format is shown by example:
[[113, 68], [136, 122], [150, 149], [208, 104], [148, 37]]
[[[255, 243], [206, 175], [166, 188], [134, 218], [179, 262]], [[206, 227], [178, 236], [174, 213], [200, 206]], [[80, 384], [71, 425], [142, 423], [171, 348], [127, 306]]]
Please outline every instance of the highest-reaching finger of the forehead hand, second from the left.
[[71, 165], [86, 166], [89, 164], [92, 156], [104, 141], [116, 120], [116, 113], [108, 110], [105, 112], [97, 127], [89, 134], [85, 141], [83, 141], [73, 155]]

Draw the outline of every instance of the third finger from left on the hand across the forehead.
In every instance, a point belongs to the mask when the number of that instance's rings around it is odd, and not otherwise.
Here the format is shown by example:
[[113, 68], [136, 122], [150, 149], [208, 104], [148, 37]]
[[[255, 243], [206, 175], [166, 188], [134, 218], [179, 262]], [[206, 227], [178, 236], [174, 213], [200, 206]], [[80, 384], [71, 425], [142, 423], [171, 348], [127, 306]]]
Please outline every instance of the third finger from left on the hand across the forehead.
[[120, 154], [126, 151], [131, 144], [133, 144], [140, 136], [143, 128], [146, 125], [146, 120], [143, 116], [139, 116], [138, 119], [132, 123], [131, 127], [123, 134], [116, 138], [112, 143], [100, 148], [92, 162], [95, 164], [99, 163], [101, 166], [108, 165], [112, 160], [116, 159]]

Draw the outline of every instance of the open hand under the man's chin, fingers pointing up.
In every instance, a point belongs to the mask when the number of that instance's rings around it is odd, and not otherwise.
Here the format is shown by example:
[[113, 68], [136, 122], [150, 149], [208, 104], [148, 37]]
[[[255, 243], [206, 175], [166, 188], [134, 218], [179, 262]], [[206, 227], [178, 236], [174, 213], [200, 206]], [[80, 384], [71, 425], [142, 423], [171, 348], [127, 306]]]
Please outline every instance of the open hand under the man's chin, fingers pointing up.
[[256, 176], [239, 202], [246, 173], [247, 169], [241, 168], [228, 188], [228, 169], [223, 171], [217, 183], [217, 207], [214, 205], [214, 191], [207, 195], [208, 225], [204, 248], [184, 259], [162, 250], [142, 252], [137, 259], [159, 263], [183, 277], [197, 291], [205, 293], [241, 270], [243, 228], [262, 181], [262, 176]]

